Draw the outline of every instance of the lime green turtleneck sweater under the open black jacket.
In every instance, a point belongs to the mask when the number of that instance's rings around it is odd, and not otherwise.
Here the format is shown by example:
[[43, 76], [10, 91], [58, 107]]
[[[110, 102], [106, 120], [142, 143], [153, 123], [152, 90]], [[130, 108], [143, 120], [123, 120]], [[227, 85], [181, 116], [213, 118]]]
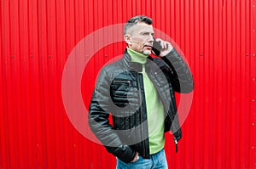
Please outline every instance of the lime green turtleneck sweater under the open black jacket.
[[149, 150], [150, 155], [153, 155], [158, 153], [165, 146], [164, 106], [160, 101], [153, 82], [151, 82], [145, 71], [145, 64], [147, 62], [148, 55], [137, 53], [136, 51], [131, 50], [131, 48], [127, 48], [127, 52], [131, 55], [132, 62], [137, 62], [143, 65], [143, 71], [141, 73], [143, 74], [143, 85], [148, 116]]

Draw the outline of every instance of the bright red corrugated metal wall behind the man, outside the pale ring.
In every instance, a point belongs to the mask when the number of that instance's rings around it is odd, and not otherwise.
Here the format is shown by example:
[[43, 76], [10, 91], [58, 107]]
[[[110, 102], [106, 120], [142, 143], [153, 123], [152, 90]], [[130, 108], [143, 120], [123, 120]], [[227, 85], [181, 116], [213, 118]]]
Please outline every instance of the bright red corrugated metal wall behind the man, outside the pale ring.
[[[115, 158], [69, 121], [61, 80], [84, 37], [136, 14], [172, 37], [195, 79], [177, 154], [167, 134], [169, 167], [256, 168], [255, 0], [1, 0], [0, 6], [0, 168], [114, 168]], [[109, 44], [84, 68], [86, 107], [98, 70], [124, 48]]]

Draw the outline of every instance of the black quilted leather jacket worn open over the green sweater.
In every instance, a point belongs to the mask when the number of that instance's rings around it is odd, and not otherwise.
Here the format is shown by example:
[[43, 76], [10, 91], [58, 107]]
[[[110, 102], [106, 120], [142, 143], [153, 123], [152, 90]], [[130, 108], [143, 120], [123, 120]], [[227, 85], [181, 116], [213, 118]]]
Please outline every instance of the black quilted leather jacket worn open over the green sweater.
[[[90, 102], [89, 125], [96, 137], [119, 160], [130, 162], [136, 152], [149, 158], [147, 110], [143, 88], [143, 65], [123, 59], [102, 68]], [[148, 56], [145, 70], [154, 83], [165, 109], [165, 132], [179, 140], [182, 132], [177, 117], [174, 91], [189, 93], [193, 79], [188, 65], [175, 49], [161, 59]], [[113, 125], [110, 125], [109, 115]], [[157, 125], [157, 124], [156, 124]]]

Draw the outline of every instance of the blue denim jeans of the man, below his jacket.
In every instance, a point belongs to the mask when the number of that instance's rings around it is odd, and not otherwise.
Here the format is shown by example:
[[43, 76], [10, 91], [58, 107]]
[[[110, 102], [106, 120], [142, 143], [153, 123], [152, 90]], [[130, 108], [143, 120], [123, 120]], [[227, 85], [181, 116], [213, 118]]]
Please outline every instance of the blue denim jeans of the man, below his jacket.
[[139, 160], [136, 162], [125, 163], [120, 161], [117, 158], [116, 161], [116, 169], [166, 169], [167, 161], [166, 161], [166, 153], [165, 149], [160, 150], [160, 152], [150, 155], [150, 159], [143, 159], [142, 156], [139, 156]]

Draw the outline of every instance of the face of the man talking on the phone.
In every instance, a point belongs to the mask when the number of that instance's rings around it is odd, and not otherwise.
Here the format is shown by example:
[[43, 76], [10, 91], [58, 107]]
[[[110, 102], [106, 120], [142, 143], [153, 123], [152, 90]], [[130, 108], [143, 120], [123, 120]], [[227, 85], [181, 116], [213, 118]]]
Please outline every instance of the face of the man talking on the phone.
[[152, 45], [154, 42], [153, 25], [140, 22], [134, 25], [125, 34], [125, 42], [129, 48], [141, 54], [151, 54]]

